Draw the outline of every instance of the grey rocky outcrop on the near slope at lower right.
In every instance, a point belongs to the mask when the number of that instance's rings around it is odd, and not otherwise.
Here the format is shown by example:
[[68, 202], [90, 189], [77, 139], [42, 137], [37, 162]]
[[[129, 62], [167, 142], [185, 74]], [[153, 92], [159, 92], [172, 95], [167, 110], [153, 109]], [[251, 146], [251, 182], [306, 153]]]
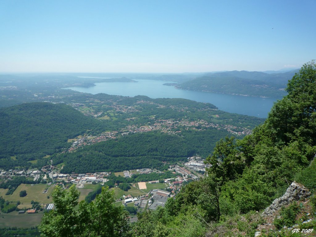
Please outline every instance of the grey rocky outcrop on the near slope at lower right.
[[282, 197], [276, 198], [272, 204], [267, 207], [264, 212], [261, 214], [262, 216], [270, 216], [277, 210], [280, 210], [281, 207], [289, 204], [292, 201], [298, 201], [302, 198], [306, 198], [310, 196], [310, 192], [302, 185], [299, 185], [293, 182], [284, 195]]

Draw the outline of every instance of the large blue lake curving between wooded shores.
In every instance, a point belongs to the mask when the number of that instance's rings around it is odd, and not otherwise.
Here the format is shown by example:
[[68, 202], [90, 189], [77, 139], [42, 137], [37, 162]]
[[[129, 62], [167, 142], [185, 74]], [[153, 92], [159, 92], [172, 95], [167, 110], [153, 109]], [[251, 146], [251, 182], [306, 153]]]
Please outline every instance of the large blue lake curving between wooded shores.
[[266, 118], [273, 102], [276, 101], [276, 99], [272, 98], [217, 94], [202, 91], [186, 91], [176, 89], [173, 86], [165, 86], [163, 85], [164, 83], [168, 82], [137, 79], [137, 82], [100, 82], [94, 83], [96, 85], [94, 87], [70, 87], [66, 89], [91, 94], [106, 93], [131, 97], [136, 95], [146, 95], [154, 99], [184, 98], [198, 102], [208, 102], [218, 107], [218, 109], [226, 112], [245, 114], [259, 118]]

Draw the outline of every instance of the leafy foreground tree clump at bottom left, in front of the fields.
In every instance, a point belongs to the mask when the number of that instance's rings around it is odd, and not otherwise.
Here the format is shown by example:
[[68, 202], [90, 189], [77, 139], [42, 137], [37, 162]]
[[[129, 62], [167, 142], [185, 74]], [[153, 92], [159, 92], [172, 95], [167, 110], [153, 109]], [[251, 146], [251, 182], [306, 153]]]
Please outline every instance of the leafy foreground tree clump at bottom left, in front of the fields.
[[45, 213], [39, 225], [41, 236], [121, 236], [127, 227], [127, 212], [123, 206], [115, 207], [114, 192], [108, 187], [96, 196], [95, 201], [81, 201], [80, 192], [72, 185], [69, 190], [57, 186], [52, 193], [55, 209]]

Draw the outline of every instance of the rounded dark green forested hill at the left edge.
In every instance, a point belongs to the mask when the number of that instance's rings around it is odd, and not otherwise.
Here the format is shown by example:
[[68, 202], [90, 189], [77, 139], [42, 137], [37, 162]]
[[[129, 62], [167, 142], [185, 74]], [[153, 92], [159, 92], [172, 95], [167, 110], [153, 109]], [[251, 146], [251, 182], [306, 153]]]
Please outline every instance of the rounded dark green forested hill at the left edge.
[[67, 139], [103, 124], [65, 104], [24, 103], [0, 109], [1, 156], [51, 155]]

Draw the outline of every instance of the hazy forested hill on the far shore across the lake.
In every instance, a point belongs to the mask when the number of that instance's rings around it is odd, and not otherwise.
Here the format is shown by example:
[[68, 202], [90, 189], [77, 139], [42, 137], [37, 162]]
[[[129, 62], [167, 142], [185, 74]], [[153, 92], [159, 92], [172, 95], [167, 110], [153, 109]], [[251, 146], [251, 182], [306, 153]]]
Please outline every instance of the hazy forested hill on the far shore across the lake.
[[208, 91], [225, 94], [240, 94], [260, 97], [282, 98], [284, 90], [295, 72], [273, 73], [228, 71], [206, 73], [193, 80], [182, 82], [176, 88], [185, 90]]

